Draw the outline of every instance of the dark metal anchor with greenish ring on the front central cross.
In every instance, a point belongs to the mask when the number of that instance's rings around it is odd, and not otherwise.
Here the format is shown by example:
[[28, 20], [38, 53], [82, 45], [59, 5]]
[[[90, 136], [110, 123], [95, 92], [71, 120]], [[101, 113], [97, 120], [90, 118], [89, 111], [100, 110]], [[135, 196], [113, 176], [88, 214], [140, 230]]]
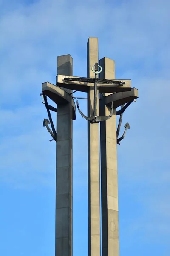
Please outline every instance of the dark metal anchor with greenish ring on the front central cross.
[[[93, 69], [94, 68], [94, 69]], [[100, 70], [99, 70], [100, 68]], [[113, 102], [111, 103], [111, 113], [108, 116], [97, 116], [97, 91], [98, 91], [98, 86], [97, 83], [102, 83], [102, 84], [115, 84], [113, 87], [119, 87], [125, 84], [125, 82], [122, 81], [114, 81], [114, 80], [109, 80], [109, 79], [99, 79], [98, 73], [102, 71], [102, 67], [99, 66], [99, 64], [96, 62], [94, 66], [91, 68], [92, 71], [95, 73], [95, 78], [64, 78], [66, 81], [82, 81], [82, 82], [88, 82], [88, 83], [94, 83], [94, 112], [93, 116], [85, 116], [82, 111], [79, 108], [79, 102], [77, 100], [77, 108], [79, 113], [83, 118], [90, 122], [101, 122], [101, 121], [106, 121], [110, 119], [113, 116]], [[99, 70], [99, 71], [98, 71]]]

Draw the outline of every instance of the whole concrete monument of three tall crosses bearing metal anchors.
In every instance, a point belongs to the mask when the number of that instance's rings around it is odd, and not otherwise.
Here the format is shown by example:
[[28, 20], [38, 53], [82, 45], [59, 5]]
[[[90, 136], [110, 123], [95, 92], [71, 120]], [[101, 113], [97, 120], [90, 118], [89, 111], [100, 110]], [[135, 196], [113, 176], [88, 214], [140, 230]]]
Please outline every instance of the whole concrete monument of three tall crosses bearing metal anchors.
[[[127, 123], [119, 137], [122, 115], [138, 98], [138, 90], [131, 88], [131, 80], [115, 79], [113, 60], [98, 59], [98, 38], [88, 39], [87, 77], [75, 77], [72, 72], [72, 57], [59, 56], [56, 85], [43, 83], [41, 93], [49, 119], [44, 119], [43, 125], [57, 144], [55, 255], [73, 255], [72, 123], [76, 119], [73, 94], [81, 91], [87, 93], [88, 108], [85, 116], [77, 101], [77, 109], [88, 124], [88, 256], [100, 256], [101, 236], [102, 256], [119, 256], [117, 144], [130, 128]], [[57, 108], [48, 104], [47, 97]], [[121, 108], [116, 110], [118, 107]], [[57, 113], [57, 131], [50, 110]], [[117, 127], [116, 115], [119, 115]]]

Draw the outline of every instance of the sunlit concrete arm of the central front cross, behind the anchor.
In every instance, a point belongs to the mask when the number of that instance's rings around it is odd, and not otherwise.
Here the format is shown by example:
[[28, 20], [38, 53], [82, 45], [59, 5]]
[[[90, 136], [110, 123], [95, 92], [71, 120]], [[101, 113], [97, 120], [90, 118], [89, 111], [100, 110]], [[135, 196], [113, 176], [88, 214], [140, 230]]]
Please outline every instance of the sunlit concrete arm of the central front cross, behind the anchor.
[[[82, 81], [79, 81], [81, 79]], [[102, 80], [104, 79], [98, 79], [97, 81], [99, 93], [117, 93], [131, 90], [131, 80], [109, 79], [109, 81], [113, 81], [111, 84], [108, 84], [108, 82], [104, 83]], [[94, 90], [93, 79], [80, 78], [78, 76], [57, 75], [56, 85], [66, 89], [77, 90], [85, 93], [88, 93], [89, 90]]]

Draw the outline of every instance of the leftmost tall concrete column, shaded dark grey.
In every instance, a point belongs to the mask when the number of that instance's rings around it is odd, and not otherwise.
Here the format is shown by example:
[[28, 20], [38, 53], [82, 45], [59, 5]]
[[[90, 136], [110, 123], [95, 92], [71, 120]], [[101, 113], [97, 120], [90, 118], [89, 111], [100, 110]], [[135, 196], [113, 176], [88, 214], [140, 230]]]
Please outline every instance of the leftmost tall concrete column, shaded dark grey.
[[[57, 74], [72, 76], [71, 55], [57, 57]], [[68, 93], [72, 90], [64, 89]], [[56, 167], [56, 256], [72, 256], [73, 234], [73, 170], [72, 170], [72, 105], [57, 105], [57, 167]]]

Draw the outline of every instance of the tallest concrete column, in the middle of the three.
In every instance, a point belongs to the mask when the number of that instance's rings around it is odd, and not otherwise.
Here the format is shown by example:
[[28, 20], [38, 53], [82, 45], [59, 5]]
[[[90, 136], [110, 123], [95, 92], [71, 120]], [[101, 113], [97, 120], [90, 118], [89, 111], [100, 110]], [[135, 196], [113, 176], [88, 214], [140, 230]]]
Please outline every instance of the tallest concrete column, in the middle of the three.
[[[98, 38], [87, 43], [87, 76], [94, 78], [91, 67], [98, 62]], [[93, 84], [94, 85], [94, 84]], [[99, 93], [97, 94], [99, 95]], [[97, 109], [99, 96], [97, 99]], [[88, 93], [88, 116], [93, 116], [94, 88]], [[99, 114], [99, 113], [97, 113]], [[100, 256], [100, 178], [99, 123], [88, 121], [88, 256]]]

